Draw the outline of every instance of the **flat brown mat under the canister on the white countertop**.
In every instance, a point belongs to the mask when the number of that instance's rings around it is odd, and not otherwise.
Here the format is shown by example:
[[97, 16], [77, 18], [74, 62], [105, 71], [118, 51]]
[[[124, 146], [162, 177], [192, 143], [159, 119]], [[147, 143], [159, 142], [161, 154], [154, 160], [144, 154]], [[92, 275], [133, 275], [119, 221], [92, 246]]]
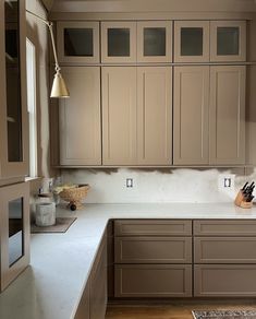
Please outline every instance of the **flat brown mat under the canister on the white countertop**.
[[56, 225], [39, 227], [35, 224], [32, 225], [32, 234], [38, 233], [65, 233], [70, 226], [74, 223], [76, 217], [57, 217]]

